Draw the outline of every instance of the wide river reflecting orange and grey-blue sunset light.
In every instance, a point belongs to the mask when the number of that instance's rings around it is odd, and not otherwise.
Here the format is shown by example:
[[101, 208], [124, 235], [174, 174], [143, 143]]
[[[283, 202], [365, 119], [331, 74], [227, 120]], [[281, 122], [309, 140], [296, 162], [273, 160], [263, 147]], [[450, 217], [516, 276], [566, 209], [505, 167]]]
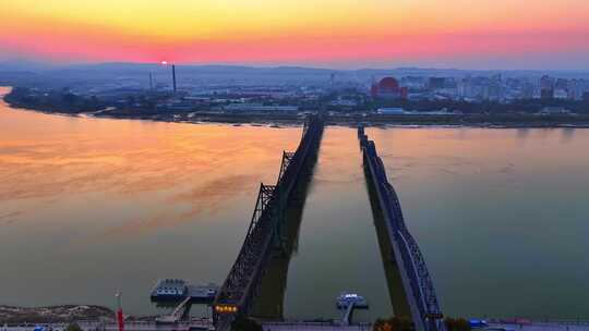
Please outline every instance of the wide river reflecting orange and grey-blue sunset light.
[[[589, 130], [368, 134], [446, 315], [589, 317]], [[0, 304], [112, 307], [120, 290], [151, 315], [157, 279], [220, 283], [300, 135], [0, 103]], [[341, 291], [369, 299], [360, 319], [392, 315], [354, 128], [325, 131], [286, 286], [289, 319], [337, 317]]]

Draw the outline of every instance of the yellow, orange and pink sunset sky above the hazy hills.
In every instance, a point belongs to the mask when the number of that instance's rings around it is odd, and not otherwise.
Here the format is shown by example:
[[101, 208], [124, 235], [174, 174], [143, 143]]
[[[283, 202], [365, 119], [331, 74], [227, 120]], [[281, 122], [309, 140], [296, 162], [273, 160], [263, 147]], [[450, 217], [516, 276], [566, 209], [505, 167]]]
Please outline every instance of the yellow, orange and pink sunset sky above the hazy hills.
[[0, 60], [589, 69], [587, 0], [10, 0]]

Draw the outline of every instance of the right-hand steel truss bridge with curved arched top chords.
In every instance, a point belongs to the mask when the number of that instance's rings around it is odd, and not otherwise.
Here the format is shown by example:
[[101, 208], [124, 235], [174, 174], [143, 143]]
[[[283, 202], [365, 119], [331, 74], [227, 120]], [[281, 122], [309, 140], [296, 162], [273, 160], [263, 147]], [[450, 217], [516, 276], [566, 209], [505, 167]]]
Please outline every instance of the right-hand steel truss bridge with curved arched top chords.
[[376, 154], [374, 142], [369, 140], [362, 126], [358, 128], [358, 138], [362, 148], [364, 168], [370, 174], [366, 180], [375, 188], [377, 195], [390, 249], [397, 261], [416, 330], [444, 330], [443, 315], [430, 272], [417, 241], [405, 224], [399, 198], [393, 185], [388, 183], [383, 160]]

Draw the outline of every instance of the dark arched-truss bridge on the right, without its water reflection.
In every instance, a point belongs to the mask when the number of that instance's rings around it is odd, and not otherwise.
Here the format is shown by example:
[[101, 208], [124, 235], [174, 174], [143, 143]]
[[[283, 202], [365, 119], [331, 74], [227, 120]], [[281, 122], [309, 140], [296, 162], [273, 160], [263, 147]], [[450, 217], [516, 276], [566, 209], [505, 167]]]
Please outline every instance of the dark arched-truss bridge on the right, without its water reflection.
[[389, 221], [393, 229], [392, 240], [395, 240], [399, 248], [401, 262], [411, 287], [410, 293], [414, 296], [423, 324], [429, 330], [444, 329], [440, 304], [425, 260], [417, 241], [407, 229], [399, 198], [393, 185], [388, 183], [385, 167], [376, 152], [375, 144], [369, 140], [363, 127], [359, 127], [358, 136], [365, 160], [372, 169], [374, 185], [383, 196], [384, 206], [381, 207], [387, 214], [385, 219]]

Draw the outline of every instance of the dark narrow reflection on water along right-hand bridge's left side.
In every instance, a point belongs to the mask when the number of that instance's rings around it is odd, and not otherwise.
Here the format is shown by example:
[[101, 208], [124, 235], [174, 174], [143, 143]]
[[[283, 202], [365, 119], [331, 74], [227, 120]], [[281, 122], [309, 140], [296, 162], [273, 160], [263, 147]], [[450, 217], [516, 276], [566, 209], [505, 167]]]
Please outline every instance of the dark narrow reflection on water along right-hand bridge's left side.
[[390, 304], [393, 310], [390, 311], [393, 316], [399, 317], [402, 319], [411, 319], [411, 310], [409, 308], [407, 293], [402, 285], [402, 280], [400, 275], [397, 261], [395, 260], [395, 254], [392, 250], [392, 244], [389, 236], [387, 234], [387, 229], [385, 224], [384, 213], [381, 209], [381, 204], [378, 203], [378, 196], [376, 189], [372, 184], [373, 181], [370, 181], [370, 170], [366, 167], [364, 168], [364, 184], [370, 198], [370, 206], [372, 209], [372, 216], [374, 219], [374, 228], [376, 230], [376, 236], [378, 238], [378, 247], [381, 250], [381, 257], [383, 261], [383, 268], [385, 271], [386, 283], [388, 285], [388, 296], [390, 298]]

